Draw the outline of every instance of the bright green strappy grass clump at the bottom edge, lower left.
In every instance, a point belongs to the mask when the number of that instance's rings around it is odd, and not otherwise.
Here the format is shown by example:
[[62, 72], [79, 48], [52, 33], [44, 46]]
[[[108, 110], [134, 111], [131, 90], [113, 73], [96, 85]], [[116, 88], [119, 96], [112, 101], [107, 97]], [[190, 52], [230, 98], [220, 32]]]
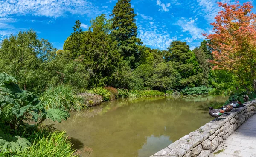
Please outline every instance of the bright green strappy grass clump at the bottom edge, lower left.
[[64, 131], [38, 138], [37, 142], [22, 152], [21, 157], [78, 157]]

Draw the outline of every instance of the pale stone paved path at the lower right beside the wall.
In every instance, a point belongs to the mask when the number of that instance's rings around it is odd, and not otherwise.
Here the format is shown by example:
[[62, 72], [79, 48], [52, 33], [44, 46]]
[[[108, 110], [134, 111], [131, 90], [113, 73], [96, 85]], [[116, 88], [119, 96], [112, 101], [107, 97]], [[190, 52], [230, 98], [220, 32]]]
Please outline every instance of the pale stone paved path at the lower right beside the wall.
[[221, 143], [210, 157], [256, 157], [256, 115]]

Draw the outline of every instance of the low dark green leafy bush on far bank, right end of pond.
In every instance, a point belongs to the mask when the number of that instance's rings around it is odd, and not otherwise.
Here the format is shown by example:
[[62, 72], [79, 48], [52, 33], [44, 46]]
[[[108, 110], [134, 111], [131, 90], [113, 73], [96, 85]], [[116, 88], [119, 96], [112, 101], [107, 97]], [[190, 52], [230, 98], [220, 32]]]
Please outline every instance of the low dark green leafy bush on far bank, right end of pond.
[[181, 92], [184, 95], [199, 95], [199, 94], [207, 94], [211, 90], [213, 90], [212, 87], [205, 87], [205, 86], [200, 86], [200, 87], [186, 87], [185, 89], [181, 90]]

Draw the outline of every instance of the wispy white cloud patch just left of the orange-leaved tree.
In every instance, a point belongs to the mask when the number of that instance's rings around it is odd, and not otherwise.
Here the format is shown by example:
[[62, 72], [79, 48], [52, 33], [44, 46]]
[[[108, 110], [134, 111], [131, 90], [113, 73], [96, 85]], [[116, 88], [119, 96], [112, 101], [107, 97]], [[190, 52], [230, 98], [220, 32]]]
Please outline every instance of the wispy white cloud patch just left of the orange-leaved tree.
[[196, 21], [197, 18], [186, 19], [182, 17], [176, 23], [178, 26], [182, 28], [183, 32], [188, 32], [192, 36], [191, 38], [186, 39], [188, 42], [192, 42], [192, 40], [204, 39], [204, 36], [202, 35], [202, 33], [204, 33], [204, 30], [196, 26]]

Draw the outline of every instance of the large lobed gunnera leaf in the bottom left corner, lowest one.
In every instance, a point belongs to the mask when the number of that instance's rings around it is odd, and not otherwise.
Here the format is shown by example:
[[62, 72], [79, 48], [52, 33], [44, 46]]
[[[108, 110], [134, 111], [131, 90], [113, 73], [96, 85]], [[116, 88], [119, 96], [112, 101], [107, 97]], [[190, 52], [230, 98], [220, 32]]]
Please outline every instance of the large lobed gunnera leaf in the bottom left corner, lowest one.
[[0, 131], [0, 149], [1, 151], [12, 150], [20, 151], [31, 146], [31, 143], [20, 136], [11, 136], [9, 134], [4, 134]]

